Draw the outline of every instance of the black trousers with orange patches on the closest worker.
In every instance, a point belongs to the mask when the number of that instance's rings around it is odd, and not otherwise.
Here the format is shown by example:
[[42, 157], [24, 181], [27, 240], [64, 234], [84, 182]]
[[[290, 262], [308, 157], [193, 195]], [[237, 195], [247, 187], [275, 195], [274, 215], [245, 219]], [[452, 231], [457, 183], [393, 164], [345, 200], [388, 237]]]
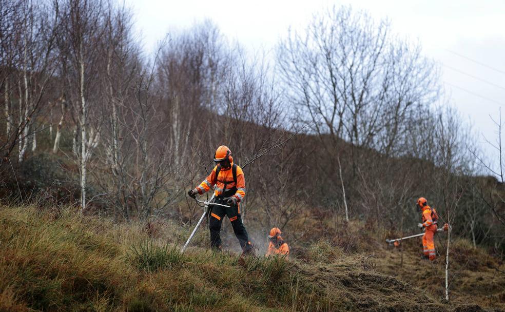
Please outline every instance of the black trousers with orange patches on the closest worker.
[[[216, 198], [214, 200], [217, 204], [228, 205], [224, 200]], [[235, 205], [231, 208], [226, 208], [222, 206], [212, 206], [210, 219], [209, 219], [209, 229], [210, 229], [210, 247], [212, 249], [221, 248], [221, 237], [219, 232], [221, 230], [221, 223], [223, 222], [224, 216], [228, 216], [231, 222], [235, 236], [239, 240], [240, 247], [242, 250], [253, 249], [251, 242], [249, 241], [249, 235], [242, 223], [242, 218], [240, 217], [239, 206]]]

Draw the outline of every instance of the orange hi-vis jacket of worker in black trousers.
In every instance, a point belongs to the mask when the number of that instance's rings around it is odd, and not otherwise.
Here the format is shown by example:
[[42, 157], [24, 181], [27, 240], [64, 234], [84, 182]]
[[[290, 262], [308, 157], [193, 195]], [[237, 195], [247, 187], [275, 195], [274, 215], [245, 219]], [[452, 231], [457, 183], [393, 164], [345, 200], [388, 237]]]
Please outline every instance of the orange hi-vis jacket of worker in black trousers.
[[[242, 201], [242, 199], [245, 196], [244, 172], [242, 171], [242, 168], [240, 168], [240, 166], [237, 165], [237, 185], [235, 185], [235, 181], [233, 180], [232, 167], [233, 163], [231, 163], [231, 166], [228, 169], [221, 168], [219, 171], [219, 177], [217, 177], [217, 179], [216, 179], [216, 170], [218, 166], [214, 167], [214, 169], [212, 169], [212, 172], [210, 172], [209, 176], [205, 180], [203, 180], [203, 182], [197, 187], [198, 193], [203, 194], [207, 192], [212, 186], [215, 186], [214, 194], [216, 195], [216, 197], [218, 197], [223, 193], [225, 193], [226, 190], [230, 190], [236, 187], [237, 191], [235, 192], [235, 194], [232, 194], [232, 196], [238, 199], [237, 202]], [[224, 190], [225, 183], [226, 183], [226, 190]]]

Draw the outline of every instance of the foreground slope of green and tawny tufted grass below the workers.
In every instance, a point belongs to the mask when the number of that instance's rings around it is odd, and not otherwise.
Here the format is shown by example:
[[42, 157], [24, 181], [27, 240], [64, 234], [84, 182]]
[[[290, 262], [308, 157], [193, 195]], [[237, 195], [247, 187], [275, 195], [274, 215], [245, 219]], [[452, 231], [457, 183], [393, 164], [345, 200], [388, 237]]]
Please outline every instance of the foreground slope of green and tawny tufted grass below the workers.
[[[449, 311], [371, 258], [318, 243], [301, 260], [179, 253], [190, 228], [0, 205], [1, 311]], [[460, 306], [457, 310], [475, 310]]]

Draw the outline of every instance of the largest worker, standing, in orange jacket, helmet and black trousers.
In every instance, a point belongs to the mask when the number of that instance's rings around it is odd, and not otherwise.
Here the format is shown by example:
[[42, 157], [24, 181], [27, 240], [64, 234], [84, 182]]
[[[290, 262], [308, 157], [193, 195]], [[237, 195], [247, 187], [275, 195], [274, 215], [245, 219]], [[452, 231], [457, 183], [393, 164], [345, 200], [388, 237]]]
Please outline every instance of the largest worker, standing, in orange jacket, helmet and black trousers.
[[228, 205], [212, 206], [210, 210], [210, 247], [215, 250], [221, 249], [221, 222], [224, 216], [228, 216], [235, 236], [239, 240], [243, 255], [254, 255], [253, 245], [249, 241], [249, 235], [240, 217], [240, 202], [245, 196], [245, 179], [242, 168], [233, 163], [231, 151], [228, 147], [221, 145], [214, 154], [216, 166], [209, 176], [195, 189], [189, 190], [188, 195], [195, 197], [196, 194], [203, 194], [211, 187], [215, 186], [214, 201], [217, 204]]

